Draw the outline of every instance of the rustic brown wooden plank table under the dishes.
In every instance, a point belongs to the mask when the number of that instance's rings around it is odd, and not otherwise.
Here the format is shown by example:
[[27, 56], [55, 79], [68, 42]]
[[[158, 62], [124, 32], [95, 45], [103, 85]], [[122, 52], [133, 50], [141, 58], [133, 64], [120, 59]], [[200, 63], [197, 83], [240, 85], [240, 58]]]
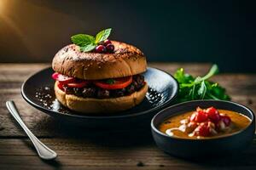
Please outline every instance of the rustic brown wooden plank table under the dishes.
[[[197, 76], [208, 64], [152, 63], [173, 73], [183, 67]], [[32, 108], [20, 95], [21, 83], [49, 64], [0, 64], [0, 169], [256, 169], [256, 139], [238, 156], [209, 161], [185, 161], [159, 150], [149, 131], [128, 133], [119, 130], [90, 133], [68, 127]], [[50, 78], [50, 77], [49, 77]], [[256, 74], [219, 74], [212, 78], [227, 88], [232, 99], [256, 111]], [[5, 107], [15, 100], [27, 127], [58, 153], [56, 161], [42, 161], [26, 134]], [[149, 125], [148, 125], [149, 126]]]

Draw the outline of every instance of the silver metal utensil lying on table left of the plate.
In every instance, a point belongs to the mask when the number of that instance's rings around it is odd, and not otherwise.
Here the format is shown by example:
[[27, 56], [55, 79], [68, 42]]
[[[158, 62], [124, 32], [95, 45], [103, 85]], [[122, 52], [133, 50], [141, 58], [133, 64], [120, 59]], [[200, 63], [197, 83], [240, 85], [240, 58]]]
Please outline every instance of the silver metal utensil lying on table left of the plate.
[[34, 144], [36, 150], [38, 151], [38, 156], [40, 156], [44, 160], [52, 160], [55, 159], [57, 154], [54, 150], [50, 150], [45, 144], [43, 144], [25, 125], [25, 123], [20, 118], [19, 112], [16, 109], [14, 101], [6, 102], [7, 109], [10, 114], [15, 117], [15, 120], [19, 122], [20, 127], [26, 132], [27, 136], [31, 139]]

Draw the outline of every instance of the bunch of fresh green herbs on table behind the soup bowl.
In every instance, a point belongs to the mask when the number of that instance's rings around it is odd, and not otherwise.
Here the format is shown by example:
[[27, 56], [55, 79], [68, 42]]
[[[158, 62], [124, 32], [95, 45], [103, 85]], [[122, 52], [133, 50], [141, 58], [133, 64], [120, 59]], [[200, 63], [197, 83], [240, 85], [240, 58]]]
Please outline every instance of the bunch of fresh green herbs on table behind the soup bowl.
[[194, 99], [223, 99], [230, 100], [230, 96], [225, 94], [225, 89], [216, 82], [208, 79], [218, 73], [218, 66], [212, 65], [211, 70], [204, 77], [192, 77], [180, 68], [174, 74], [179, 83], [179, 94], [177, 102], [184, 102]]

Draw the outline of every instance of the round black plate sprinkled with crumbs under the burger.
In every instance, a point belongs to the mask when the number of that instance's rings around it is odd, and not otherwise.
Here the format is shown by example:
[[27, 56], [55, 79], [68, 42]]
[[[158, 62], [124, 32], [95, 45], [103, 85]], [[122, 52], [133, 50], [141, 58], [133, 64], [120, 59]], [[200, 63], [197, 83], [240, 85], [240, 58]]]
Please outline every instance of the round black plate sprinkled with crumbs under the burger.
[[125, 123], [142, 121], [150, 122], [150, 118], [157, 111], [170, 105], [178, 91], [178, 84], [171, 75], [165, 71], [148, 67], [148, 70], [143, 73], [146, 82], [148, 82], [148, 93], [140, 105], [114, 115], [90, 116], [70, 111], [55, 99], [55, 81], [51, 78], [53, 72], [51, 68], [46, 68], [29, 77], [21, 87], [23, 98], [38, 110], [44, 111], [50, 116], [61, 118], [61, 121], [74, 122], [88, 127], [119, 126], [125, 125]]

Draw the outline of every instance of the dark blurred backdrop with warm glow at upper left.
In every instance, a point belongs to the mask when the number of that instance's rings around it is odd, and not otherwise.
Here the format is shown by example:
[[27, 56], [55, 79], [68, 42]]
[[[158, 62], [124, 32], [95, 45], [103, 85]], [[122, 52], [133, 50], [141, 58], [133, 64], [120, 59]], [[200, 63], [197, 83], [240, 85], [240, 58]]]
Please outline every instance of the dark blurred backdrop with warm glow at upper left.
[[112, 27], [148, 61], [256, 72], [255, 19], [253, 1], [0, 0], [0, 61], [50, 62], [73, 34]]

